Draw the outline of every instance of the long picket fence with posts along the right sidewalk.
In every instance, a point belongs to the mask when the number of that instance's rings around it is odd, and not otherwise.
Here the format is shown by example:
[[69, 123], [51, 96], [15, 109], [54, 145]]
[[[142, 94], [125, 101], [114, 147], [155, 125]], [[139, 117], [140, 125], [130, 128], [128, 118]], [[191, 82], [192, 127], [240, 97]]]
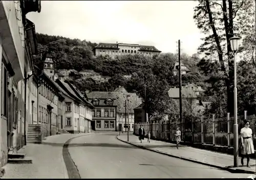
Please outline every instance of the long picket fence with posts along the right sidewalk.
[[[245, 111], [245, 115], [238, 116], [239, 138], [240, 130], [244, 127], [245, 119], [250, 122], [250, 128], [253, 133], [253, 144], [256, 146], [255, 114], [247, 116]], [[186, 124], [173, 121], [136, 123], [134, 133], [138, 134], [138, 129], [142, 124], [145, 132], [151, 132], [151, 136], [175, 141], [174, 134], [176, 133], [176, 128], [179, 127], [181, 130], [181, 138], [184, 142], [230, 147], [233, 146], [233, 122], [234, 118], [230, 117], [228, 113], [227, 117], [222, 118], [215, 118], [215, 115], [212, 115], [211, 118], [201, 116], [201, 119]]]

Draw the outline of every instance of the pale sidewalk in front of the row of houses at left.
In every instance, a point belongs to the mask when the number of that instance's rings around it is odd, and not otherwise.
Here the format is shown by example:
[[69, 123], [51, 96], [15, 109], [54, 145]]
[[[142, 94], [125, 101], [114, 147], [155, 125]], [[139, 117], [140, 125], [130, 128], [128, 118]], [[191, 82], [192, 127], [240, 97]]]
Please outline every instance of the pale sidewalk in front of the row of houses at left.
[[2, 178], [69, 178], [62, 156], [62, 147], [72, 137], [95, 133], [58, 134], [47, 137], [42, 144], [27, 144], [19, 152], [33, 159], [32, 164], [6, 164]]

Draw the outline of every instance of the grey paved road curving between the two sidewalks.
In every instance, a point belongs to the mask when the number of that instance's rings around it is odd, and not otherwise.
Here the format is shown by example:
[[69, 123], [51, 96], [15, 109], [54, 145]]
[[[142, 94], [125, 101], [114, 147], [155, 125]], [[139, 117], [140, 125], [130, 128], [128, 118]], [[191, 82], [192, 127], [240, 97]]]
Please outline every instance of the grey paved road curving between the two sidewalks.
[[75, 138], [70, 155], [81, 178], [248, 177], [143, 150], [120, 142], [116, 133]]

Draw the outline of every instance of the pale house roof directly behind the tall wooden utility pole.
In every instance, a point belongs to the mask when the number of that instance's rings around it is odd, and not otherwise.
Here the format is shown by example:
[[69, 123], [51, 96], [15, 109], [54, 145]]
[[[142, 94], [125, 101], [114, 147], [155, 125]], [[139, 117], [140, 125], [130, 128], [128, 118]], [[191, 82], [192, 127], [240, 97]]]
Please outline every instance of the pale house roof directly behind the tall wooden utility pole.
[[[182, 87], [181, 94], [183, 98], [197, 98], [197, 95], [195, 94], [195, 92], [190, 88]], [[180, 97], [179, 88], [170, 88], [168, 90], [168, 95], [170, 98], [179, 98]]]

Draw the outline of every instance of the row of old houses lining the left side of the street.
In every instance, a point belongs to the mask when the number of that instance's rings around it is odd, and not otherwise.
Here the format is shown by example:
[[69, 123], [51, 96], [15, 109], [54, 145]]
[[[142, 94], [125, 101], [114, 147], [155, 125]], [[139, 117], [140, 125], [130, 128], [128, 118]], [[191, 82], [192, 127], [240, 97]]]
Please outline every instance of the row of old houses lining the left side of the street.
[[40, 1], [0, 1], [0, 167], [8, 154], [58, 132], [91, 132], [94, 106], [54, 71], [47, 53], [34, 66], [35, 25], [26, 18], [40, 12]]

